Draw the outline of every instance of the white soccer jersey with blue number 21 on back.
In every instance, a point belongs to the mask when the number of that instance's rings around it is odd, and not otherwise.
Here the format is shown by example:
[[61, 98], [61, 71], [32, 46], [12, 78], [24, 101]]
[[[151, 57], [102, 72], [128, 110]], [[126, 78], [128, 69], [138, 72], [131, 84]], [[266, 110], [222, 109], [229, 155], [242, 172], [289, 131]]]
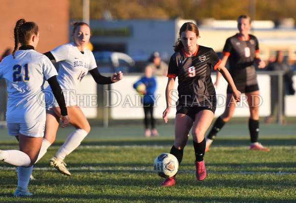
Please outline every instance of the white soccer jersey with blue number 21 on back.
[[0, 63], [0, 80], [7, 83], [7, 123], [32, 123], [46, 120], [43, 84], [58, 75], [53, 63], [33, 49], [18, 50]]

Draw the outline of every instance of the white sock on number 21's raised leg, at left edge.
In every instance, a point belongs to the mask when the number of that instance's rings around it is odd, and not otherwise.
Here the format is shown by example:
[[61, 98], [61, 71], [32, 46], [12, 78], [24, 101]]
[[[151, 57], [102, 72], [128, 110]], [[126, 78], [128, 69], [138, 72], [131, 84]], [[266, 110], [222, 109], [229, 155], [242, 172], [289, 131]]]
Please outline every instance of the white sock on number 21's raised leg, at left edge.
[[19, 150], [3, 150], [2, 161], [14, 166], [27, 167], [31, 164], [30, 157]]

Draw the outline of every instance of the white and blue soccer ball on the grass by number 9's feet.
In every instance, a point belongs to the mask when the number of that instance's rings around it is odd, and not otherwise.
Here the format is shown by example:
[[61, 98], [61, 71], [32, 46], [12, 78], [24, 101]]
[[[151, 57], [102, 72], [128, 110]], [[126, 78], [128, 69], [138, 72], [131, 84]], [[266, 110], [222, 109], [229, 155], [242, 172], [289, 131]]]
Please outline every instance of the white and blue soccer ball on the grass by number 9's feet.
[[168, 178], [176, 175], [179, 162], [176, 156], [170, 153], [162, 153], [154, 161], [154, 171], [161, 177]]

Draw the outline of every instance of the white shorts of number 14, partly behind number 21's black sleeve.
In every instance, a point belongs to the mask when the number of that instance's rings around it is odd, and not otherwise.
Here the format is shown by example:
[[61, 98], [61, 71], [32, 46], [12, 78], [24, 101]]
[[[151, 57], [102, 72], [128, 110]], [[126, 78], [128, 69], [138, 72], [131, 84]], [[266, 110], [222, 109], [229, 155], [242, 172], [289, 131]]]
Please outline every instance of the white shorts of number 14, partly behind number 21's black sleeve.
[[[48, 88], [49, 87], [49, 88]], [[50, 86], [48, 86], [44, 91], [44, 95], [45, 95], [45, 106], [46, 106], [46, 110], [52, 108], [52, 107], [59, 107], [59, 104], [52, 92], [52, 89], [50, 88]], [[63, 91], [64, 94], [64, 98], [65, 98], [65, 102], [66, 102], [66, 106], [76, 106], [76, 100], [75, 100], [75, 92], [74, 91]]]

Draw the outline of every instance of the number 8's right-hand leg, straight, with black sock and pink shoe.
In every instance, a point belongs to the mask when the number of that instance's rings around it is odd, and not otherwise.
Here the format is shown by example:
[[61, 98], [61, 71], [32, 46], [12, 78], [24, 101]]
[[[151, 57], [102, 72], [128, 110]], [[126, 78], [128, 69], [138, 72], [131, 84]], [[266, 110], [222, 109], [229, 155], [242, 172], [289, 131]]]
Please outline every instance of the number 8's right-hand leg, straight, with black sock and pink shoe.
[[250, 108], [250, 119], [249, 119], [249, 130], [251, 137], [250, 150], [265, 150], [269, 151], [268, 148], [263, 147], [258, 143], [259, 137], [259, 105], [260, 105], [260, 93], [258, 91], [253, 91], [250, 93], [245, 93], [247, 98], [249, 108]]

